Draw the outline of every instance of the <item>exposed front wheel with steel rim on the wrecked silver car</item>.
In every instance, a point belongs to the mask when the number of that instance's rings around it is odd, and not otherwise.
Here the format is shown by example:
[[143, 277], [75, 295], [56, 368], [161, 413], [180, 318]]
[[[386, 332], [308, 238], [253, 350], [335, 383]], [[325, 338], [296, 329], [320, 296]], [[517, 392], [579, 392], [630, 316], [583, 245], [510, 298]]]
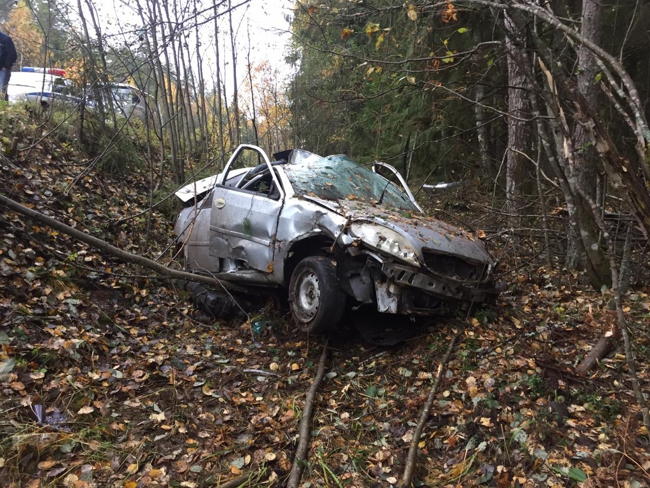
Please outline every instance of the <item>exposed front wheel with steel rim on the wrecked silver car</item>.
[[331, 258], [304, 258], [291, 273], [289, 308], [294, 322], [304, 332], [324, 334], [336, 330], [343, 318], [345, 300]]

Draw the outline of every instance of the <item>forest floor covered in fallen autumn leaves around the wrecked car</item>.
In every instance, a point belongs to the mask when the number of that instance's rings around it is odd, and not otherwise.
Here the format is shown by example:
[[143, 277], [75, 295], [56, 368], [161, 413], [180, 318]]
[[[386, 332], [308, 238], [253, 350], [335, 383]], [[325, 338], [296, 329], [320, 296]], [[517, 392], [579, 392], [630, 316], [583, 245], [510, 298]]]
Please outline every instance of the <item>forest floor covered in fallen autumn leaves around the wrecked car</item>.
[[[1, 193], [117, 247], [152, 258], [172, 239], [174, 212], [138, 215], [147, 175], [86, 173], [48, 142], [2, 165]], [[398, 345], [370, 345], [344, 325], [330, 340], [302, 486], [396, 486], [459, 331], [414, 485], [650, 485], [624, 354], [588, 378], [574, 372], [616, 326], [611, 295], [547, 269], [532, 249], [504, 254], [512, 271], [496, 304], [413, 325]], [[323, 344], [276, 301], [249, 303], [251, 323], [201, 321], [172, 282], [4, 209], [0, 485], [202, 487], [242, 474], [242, 486], [283, 485]], [[625, 312], [647, 392], [650, 298], [638, 282]]]

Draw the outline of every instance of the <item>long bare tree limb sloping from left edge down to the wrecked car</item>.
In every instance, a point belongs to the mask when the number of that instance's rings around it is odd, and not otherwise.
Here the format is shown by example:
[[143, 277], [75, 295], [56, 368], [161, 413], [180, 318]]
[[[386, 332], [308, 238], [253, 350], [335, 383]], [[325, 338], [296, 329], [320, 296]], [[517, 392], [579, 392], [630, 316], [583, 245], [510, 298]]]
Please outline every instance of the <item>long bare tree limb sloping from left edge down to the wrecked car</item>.
[[78, 241], [81, 241], [83, 243], [86, 243], [89, 246], [92, 246], [99, 250], [103, 250], [104, 252], [107, 252], [107, 254], [110, 254], [111, 256], [115, 256], [116, 258], [119, 258], [124, 262], [140, 265], [147, 269], [151, 269], [152, 271], [155, 271], [156, 273], [160, 273], [162, 276], [165, 276], [166, 278], [179, 278], [181, 280], [188, 280], [192, 282], [203, 283], [203, 284], [218, 286], [222, 288], [224, 287], [224, 285], [222, 284], [222, 282], [220, 282], [220, 280], [217, 280], [216, 278], [212, 278], [211, 276], [204, 276], [204, 275], [202, 276], [200, 274], [187, 273], [186, 271], [177, 271], [175, 269], [170, 269], [165, 265], [162, 265], [161, 263], [157, 263], [148, 258], [144, 258], [143, 256], [138, 256], [137, 254], [131, 254], [131, 252], [127, 252], [123, 249], [115, 247], [114, 245], [110, 245], [106, 241], [90, 236], [89, 234], [86, 234], [85, 232], [79, 229], [66, 225], [58, 221], [57, 219], [53, 219], [53, 217], [49, 217], [44, 213], [37, 212], [32, 208], [19, 204], [18, 202], [8, 197], [5, 197], [5, 195], [0, 194], [0, 204], [3, 204], [3, 206], [6, 206], [11, 210], [14, 210], [14, 212], [21, 213], [22, 215], [25, 215], [30, 219], [34, 219], [35, 221], [47, 225], [55, 230], [59, 230], [59, 232], [68, 234], [68, 236], [77, 239]]

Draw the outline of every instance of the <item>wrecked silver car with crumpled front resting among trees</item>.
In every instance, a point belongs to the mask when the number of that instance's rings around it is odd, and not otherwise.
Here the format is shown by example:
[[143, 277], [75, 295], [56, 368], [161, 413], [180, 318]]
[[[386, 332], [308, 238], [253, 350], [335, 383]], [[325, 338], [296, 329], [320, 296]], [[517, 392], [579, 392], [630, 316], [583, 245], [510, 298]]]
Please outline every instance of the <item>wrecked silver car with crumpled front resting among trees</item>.
[[[393, 183], [396, 180], [400, 186]], [[482, 241], [426, 217], [390, 165], [240, 145], [222, 173], [176, 192], [188, 271], [288, 291], [294, 321], [336, 328], [346, 301], [434, 315], [494, 299]]]

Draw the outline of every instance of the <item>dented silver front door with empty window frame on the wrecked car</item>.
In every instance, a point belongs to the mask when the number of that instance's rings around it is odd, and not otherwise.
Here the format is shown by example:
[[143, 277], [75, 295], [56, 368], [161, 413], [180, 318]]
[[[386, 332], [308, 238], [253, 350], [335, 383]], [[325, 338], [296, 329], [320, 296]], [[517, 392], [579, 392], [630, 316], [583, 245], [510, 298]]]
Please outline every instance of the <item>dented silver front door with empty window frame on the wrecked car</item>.
[[[259, 164], [258, 164], [259, 163]], [[250, 166], [241, 177], [228, 173]], [[233, 154], [213, 192], [209, 254], [231, 260], [222, 271], [273, 271], [278, 215], [284, 192], [268, 156], [251, 145]]]

